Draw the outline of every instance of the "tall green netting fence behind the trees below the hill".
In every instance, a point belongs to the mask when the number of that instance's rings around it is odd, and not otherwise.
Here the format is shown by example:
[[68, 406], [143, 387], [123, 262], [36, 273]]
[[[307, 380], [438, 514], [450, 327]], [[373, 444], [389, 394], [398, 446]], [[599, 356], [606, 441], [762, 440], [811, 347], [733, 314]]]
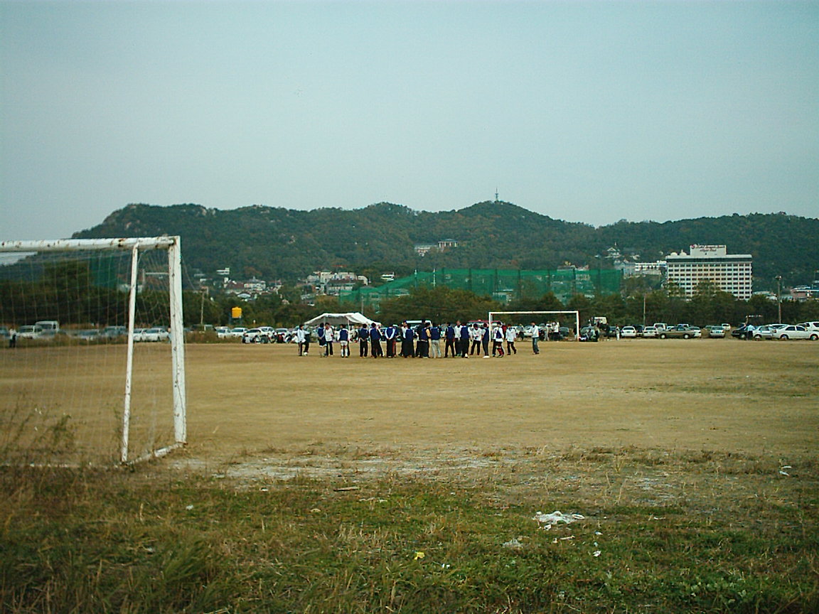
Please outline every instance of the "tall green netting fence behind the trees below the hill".
[[622, 272], [614, 269], [438, 269], [416, 271], [378, 287], [360, 287], [342, 292], [340, 300], [378, 309], [382, 300], [405, 296], [414, 287], [446, 286], [491, 296], [501, 303], [518, 298], [539, 298], [554, 292], [565, 303], [572, 296], [589, 297], [620, 291]]

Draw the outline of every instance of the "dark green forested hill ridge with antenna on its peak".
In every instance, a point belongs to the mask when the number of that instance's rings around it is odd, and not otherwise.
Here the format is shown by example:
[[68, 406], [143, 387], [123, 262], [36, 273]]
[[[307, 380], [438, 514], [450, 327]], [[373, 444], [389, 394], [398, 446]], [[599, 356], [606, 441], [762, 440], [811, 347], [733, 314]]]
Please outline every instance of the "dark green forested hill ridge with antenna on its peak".
[[[294, 281], [319, 269], [368, 274], [414, 269], [554, 268], [565, 262], [610, 266], [600, 255], [618, 246], [624, 255], [651, 261], [694, 243], [725, 244], [753, 255], [758, 287], [810, 282], [819, 269], [819, 219], [786, 214], [731, 215], [675, 222], [625, 222], [595, 228], [551, 219], [506, 202], [461, 210], [415, 211], [379, 203], [364, 209], [310, 211], [253, 205], [236, 210], [201, 205], [128, 205], [85, 237], [183, 237], [189, 269], [212, 275], [230, 267], [234, 277]], [[455, 239], [459, 247], [414, 252], [414, 245]]]

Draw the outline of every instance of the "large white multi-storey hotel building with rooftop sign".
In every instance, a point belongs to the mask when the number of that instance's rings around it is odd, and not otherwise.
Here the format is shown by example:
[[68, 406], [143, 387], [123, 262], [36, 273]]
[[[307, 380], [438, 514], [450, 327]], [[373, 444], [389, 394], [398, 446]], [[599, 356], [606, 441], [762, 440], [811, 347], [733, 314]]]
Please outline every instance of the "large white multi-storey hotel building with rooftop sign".
[[704, 279], [740, 300], [751, 297], [752, 262], [750, 254], [729, 254], [724, 245], [692, 245], [690, 254], [666, 256], [666, 279], [681, 287], [686, 296], [694, 296], [697, 284]]

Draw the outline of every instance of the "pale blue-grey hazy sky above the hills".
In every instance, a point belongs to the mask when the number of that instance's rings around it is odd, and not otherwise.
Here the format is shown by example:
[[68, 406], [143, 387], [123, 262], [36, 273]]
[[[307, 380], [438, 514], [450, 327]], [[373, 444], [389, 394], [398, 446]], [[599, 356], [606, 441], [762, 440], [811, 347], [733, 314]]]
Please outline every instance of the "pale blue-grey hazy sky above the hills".
[[0, 240], [495, 192], [819, 217], [819, 2], [0, 0]]

